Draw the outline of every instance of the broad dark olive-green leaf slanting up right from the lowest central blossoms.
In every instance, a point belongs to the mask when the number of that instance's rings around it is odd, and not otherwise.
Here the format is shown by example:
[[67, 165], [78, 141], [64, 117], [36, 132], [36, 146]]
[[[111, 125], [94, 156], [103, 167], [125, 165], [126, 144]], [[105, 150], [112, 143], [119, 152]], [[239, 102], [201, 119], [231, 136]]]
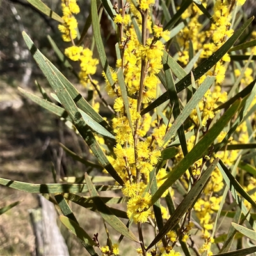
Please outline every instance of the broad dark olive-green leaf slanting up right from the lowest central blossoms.
[[210, 145], [218, 137], [218, 135], [224, 129], [224, 127], [227, 125], [230, 119], [234, 116], [239, 106], [239, 101], [233, 104], [223, 114], [223, 116], [221, 116], [221, 118], [216, 122], [216, 124], [214, 124], [211, 127], [211, 129], [209, 129], [207, 134], [205, 134], [205, 136], [200, 141], [198, 141], [198, 143], [196, 143], [195, 147], [193, 147], [193, 149], [187, 154], [187, 156], [185, 156], [180, 161], [180, 163], [177, 164], [175, 168], [173, 168], [172, 172], [170, 172], [168, 179], [166, 179], [164, 184], [158, 189], [157, 193], [152, 196], [152, 204], [154, 204], [154, 202], [156, 202], [156, 200], [160, 198], [161, 195], [163, 195], [164, 191], [170, 188], [170, 186], [172, 186], [172, 184], [176, 180], [180, 179], [180, 177], [186, 172], [186, 170], [188, 170], [188, 168], [193, 163], [195, 163], [196, 160], [200, 159], [200, 157], [204, 155], [204, 152], [207, 150], [207, 148], [210, 147]]

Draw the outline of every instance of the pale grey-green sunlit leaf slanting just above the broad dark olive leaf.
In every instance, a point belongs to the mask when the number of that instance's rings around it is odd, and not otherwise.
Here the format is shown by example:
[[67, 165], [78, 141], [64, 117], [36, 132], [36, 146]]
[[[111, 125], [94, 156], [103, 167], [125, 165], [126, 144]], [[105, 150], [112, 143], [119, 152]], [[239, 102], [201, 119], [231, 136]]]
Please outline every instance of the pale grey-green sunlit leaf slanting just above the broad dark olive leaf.
[[185, 120], [190, 115], [191, 111], [196, 108], [196, 105], [202, 97], [204, 97], [207, 90], [211, 87], [212, 83], [214, 82], [215, 77], [213, 76], [207, 76], [204, 82], [199, 86], [198, 90], [196, 90], [195, 94], [192, 96], [192, 98], [189, 100], [188, 104], [186, 104], [185, 108], [182, 110], [182, 113], [177, 117], [177, 119], [173, 122], [170, 129], [166, 132], [164, 138], [163, 138], [163, 145], [165, 145], [170, 138], [177, 132], [180, 125], [182, 125]]

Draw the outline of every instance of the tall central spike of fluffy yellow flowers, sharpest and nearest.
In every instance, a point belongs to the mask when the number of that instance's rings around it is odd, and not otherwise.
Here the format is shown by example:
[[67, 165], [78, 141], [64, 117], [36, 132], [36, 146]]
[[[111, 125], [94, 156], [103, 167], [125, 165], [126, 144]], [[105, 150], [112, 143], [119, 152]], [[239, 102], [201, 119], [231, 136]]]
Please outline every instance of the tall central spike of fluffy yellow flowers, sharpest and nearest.
[[[154, 1], [140, 1], [138, 4], [140, 10], [143, 11], [152, 3]], [[137, 17], [137, 22], [141, 28], [140, 12], [138, 12], [132, 2], [130, 3], [130, 11]], [[122, 68], [127, 92], [131, 97], [138, 97], [141, 75], [143, 76], [141, 102], [147, 104], [147, 102], [156, 97], [156, 87], [159, 83], [156, 74], [162, 68], [161, 56], [163, 56], [164, 45], [157, 40], [155, 42], [154, 38], [166, 38], [169, 32], [163, 31], [163, 28], [156, 25], [152, 29], [152, 21], [150, 16], [148, 16], [147, 29], [152, 33], [153, 37], [147, 38], [145, 45], [143, 45], [138, 40], [131, 18], [127, 19], [127, 16], [130, 17], [123, 10], [119, 10], [114, 19], [117, 26], [122, 26], [124, 33], [124, 36], [120, 38], [119, 45], [120, 51], [122, 51], [122, 58], [116, 61], [116, 68]], [[144, 73], [141, 73], [142, 61], [145, 63]], [[151, 136], [148, 136], [152, 125], [151, 116], [146, 114], [141, 117], [140, 113], [138, 113], [138, 99], [129, 97], [131, 127], [125, 112], [124, 100], [120, 93], [116, 72], [111, 70], [111, 73], [115, 81], [115, 88], [111, 87], [105, 74], [104, 77], [106, 79], [106, 90], [109, 95], [117, 96], [113, 107], [118, 115], [112, 120], [117, 144], [114, 148], [115, 158], [111, 156], [108, 158], [120, 177], [125, 180], [125, 186], [122, 191], [125, 196], [131, 198], [127, 204], [129, 218], [133, 218], [136, 223], [143, 223], [152, 214], [149, 209], [151, 196], [148, 193], [144, 193], [144, 191], [149, 181], [149, 173], [153, 170], [161, 156], [157, 146], [161, 145], [166, 126], [159, 125], [158, 127], [153, 127], [155, 129], [151, 132]], [[136, 134], [132, 133], [133, 131]], [[136, 135], [140, 136], [141, 140], [136, 141], [136, 146], [134, 146], [134, 137]], [[134, 154], [134, 147], [136, 147], [136, 154]], [[139, 178], [138, 172], [140, 172]], [[164, 176], [166, 176], [166, 171], [164, 169], [160, 170], [157, 174], [157, 182], [159, 184], [163, 183]]]

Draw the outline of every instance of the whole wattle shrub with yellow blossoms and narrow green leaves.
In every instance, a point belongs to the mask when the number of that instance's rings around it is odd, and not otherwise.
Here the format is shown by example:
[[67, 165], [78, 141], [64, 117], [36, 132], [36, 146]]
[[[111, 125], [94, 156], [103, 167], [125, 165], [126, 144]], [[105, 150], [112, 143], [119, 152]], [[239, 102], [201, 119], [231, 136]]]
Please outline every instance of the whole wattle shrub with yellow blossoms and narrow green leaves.
[[[253, 188], [256, 184], [253, 119], [256, 85], [252, 62], [256, 35], [248, 32], [254, 18], [244, 18], [242, 1], [232, 4], [216, 1], [212, 7], [204, 1], [189, 0], [182, 1], [179, 8], [174, 1], [160, 1], [158, 9], [154, 9], [153, 0], [121, 1], [121, 6], [93, 0], [81, 36], [75, 18], [79, 13], [76, 1], [62, 4], [63, 17], [40, 0], [30, 2], [60, 22], [58, 28], [63, 41], [72, 46], [62, 52], [51, 36], [47, 36], [48, 40], [63, 66], [88, 89], [88, 98], [83, 97], [25, 32], [22, 35], [26, 45], [51, 85], [52, 93], [49, 97], [38, 83], [43, 98], [22, 88], [19, 91], [54, 113], [83, 138], [91, 150], [90, 157], [79, 156], [65, 145], [61, 147], [74, 161], [90, 168], [88, 172], [95, 172], [92, 176], [85, 173], [81, 177], [76, 173], [74, 177], [65, 177], [64, 184], [57, 180], [53, 168], [56, 184], [3, 178], [0, 184], [28, 193], [54, 194], [57, 203], [51, 200], [63, 214], [61, 223], [90, 255], [122, 255], [120, 244], [124, 237], [134, 246], [140, 245], [137, 252], [143, 256], [180, 255], [179, 249], [189, 256], [194, 252], [233, 256], [256, 252], [255, 246], [231, 250], [236, 246], [237, 231], [241, 233], [239, 239], [247, 237], [253, 240], [251, 244], [256, 240]], [[114, 47], [115, 68], [110, 67], [104, 47], [106, 38], [100, 31], [99, 13], [102, 12], [108, 13], [108, 22], [118, 38]], [[202, 24], [200, 15], [207, 17]], [[236, 17], [243, 19], [238, 29]], [[102, 85], [95, 76], [99, 61], [83, 44], [91, 25], [106, 92], [115, 97], [114, 104], [100, 92]], [[243, 33], [253, 40], [233, 46]], [[231, 60], [234, 62], [228, 65]], [[72, 61], [79, 62], [78, 72]], [[225, 83], [231, 85], [227, 88]], [[100, 115], [95, 102], [97, 96], [100, 104], [108, 107], [111, 120]], [[102, 174], [102, 170], [108, 175]], [[99, 191], [111, 190], [118, 195], [99, 195]], [[228, 191], [234, 203], [227, 198]], [[99, 243], [97, 230], [93, 230], [92, 238], [89, 234], [92, 230], [86, 232], [81, 227], [69, 201], [100, 214], [108, 237], [106, 246]], [[1, 214], [17, 204], [2, 208]], [[125, 204], [127, 211], [108, 204]], [[127, 225], [120, 218], [129, 219]], [[229, 230], [218, 237], [225, 218], [233, 221]], [[112, 243], [106, 223], [120, 234], [117, 243]], [[133, 223], [137, 224], [138, 234], [131, 231]], [[154, 231], [150, 243], [146, 239], [145, 223]], [[198, 230], [204, 237], [199, 243], [200, 250], [194, 240], [195, 237], [197, 242], [200, 240], [196, 235]], [[222, 248], [214, 244], [214, 239], [223, 243]]]

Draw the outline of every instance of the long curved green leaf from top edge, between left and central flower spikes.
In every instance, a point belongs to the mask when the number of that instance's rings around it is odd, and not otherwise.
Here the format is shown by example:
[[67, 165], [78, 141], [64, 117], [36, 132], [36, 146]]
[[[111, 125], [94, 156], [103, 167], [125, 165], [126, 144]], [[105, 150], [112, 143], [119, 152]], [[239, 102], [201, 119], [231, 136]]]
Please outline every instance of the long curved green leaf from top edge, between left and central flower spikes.
[[[103, 2], [107, 2], [107, 3], [104, 3], [104, 4], [109, 5], [109, 3], [108, 3], [109, 0], [108, 1], [103, 1]], [[99, 26], [99, 19], [98, 19], [98, 12], [97, 12], [97, 2], [96, 1], [91, 2], [91, 12], [92, 12], [93, 36], [94, 36], [94, 39], [95, 39], [95, 44], [96, 44], [96, 47], [97, 47], [97, 51], [99, 53], [100, 63], [102, 65], [102, 68], [103, 68], [106, 76], [108, 77], [109, 83], [111, 84], [111, 86], [113, 86], [114, 81], [113, 81], [111, 71], [110, 71], [110, 68], [109, 68], [109, 65], [108, 65], [108, 60], [107, 60], [106, 52], [104, 50], [102, 37], [100, 35], [100, 26]], [[113, 10], [111, 10], [111, 12], [113, 12]], [[113, 17], [111, 17], [111, 18], [113, 18]]]

